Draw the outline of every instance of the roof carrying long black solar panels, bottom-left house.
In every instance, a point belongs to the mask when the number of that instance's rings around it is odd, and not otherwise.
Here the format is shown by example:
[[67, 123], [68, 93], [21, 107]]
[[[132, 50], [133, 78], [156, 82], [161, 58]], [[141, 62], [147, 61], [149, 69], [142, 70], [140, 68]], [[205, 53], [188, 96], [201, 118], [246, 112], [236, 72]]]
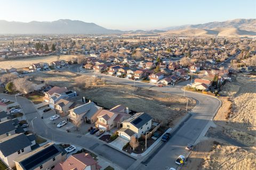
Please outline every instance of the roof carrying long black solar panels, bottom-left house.
[[22, 155], [14, 161], [18, 162], [24, 170], [32, 170], [61, 154], [61, 152], [60, 148], [54, 143], [46, 143], [42, 147]]

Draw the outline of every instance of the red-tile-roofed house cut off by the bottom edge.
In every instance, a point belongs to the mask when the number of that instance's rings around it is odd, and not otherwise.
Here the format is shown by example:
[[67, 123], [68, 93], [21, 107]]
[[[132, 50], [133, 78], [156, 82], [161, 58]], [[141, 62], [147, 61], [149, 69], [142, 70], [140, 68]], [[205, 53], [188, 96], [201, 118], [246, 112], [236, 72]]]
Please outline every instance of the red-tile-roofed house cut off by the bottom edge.
[[[99, 170], [101, 166], [96, 160], [92, 158], [90, 154], [80, 153], [70, 155], [65, 162], [61, 162], [56, 165], [54, 170]], [[17, 169], [19, 170], [19, 169]]]

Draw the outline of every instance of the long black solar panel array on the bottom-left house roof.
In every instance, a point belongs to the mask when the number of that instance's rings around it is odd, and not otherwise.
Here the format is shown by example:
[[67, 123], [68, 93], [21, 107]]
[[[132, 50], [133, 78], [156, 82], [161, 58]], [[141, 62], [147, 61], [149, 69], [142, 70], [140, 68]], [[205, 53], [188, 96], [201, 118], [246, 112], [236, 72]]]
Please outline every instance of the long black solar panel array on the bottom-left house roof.
[[49, 148], [39, 151], [39, 152], [37, 152], [37, 154], [23, 160], [20, 164], [25, 169], [28, 170], [28, 169], [31, 169], [34, 166], [40, 164], [44, 160], [47, 160], [48, 158], [52, 157], [53, 155], [57, 154], [58, 152], [59, 152], [59, 150], [52, 145]]

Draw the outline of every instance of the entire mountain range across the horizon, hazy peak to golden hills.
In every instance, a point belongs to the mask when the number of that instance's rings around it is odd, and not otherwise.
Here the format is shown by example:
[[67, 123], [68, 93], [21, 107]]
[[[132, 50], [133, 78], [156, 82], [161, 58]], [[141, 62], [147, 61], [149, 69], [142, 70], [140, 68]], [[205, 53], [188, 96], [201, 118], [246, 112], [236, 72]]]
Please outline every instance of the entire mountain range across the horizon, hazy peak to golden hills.
[[178, 36], [255, 36], [256, 19], [235, 19], [223, 22], [180, 25], [159, 30], [121, 31], [95, 23], [61, 19], [52, 22], [15, 22], [0, 20], [0, 34], [128, 34]]

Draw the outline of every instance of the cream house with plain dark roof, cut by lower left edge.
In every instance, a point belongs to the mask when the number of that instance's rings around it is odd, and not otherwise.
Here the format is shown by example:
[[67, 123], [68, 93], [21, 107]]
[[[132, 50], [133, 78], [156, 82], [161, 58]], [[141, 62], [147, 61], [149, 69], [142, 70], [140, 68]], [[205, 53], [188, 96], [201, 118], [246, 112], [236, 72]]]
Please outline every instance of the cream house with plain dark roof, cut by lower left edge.
[[36, 142], [33, 134], [13, 134], [0, 139], [0, 158], [7, 166], [14, 167], [13, 160], [30, 152], [31, 146], [34, 145]]

